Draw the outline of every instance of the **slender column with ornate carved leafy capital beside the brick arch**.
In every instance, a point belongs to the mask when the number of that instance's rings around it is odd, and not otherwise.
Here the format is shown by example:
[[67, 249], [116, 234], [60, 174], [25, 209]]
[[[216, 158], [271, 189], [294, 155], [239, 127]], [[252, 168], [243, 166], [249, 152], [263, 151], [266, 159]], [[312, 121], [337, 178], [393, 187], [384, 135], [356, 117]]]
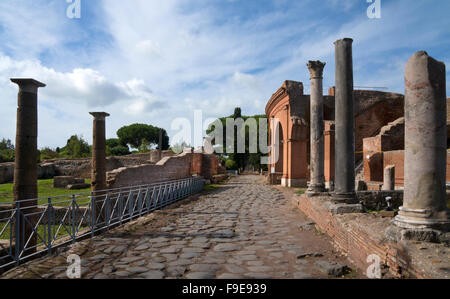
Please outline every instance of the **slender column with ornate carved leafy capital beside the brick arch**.
[[311, 180], [308, 188], [309, 195], [320, 194], [325, 191], [324, 175], [324, 119], [323, 119], [323, 69], [324, 62], [309, 61], [307, 64], [311, 74]]

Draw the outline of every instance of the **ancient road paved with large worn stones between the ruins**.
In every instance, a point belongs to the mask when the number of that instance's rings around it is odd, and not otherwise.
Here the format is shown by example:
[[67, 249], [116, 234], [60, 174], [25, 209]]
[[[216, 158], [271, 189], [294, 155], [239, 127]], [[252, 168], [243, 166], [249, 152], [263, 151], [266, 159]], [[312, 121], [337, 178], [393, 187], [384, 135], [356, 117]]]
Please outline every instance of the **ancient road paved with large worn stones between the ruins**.
[[348, 264], [259, 176], [234, 178], [3, 278], [67, 278], [70, 254], [81, 257], [82, 278], [95, 279], [329, 278], [323, 264]]

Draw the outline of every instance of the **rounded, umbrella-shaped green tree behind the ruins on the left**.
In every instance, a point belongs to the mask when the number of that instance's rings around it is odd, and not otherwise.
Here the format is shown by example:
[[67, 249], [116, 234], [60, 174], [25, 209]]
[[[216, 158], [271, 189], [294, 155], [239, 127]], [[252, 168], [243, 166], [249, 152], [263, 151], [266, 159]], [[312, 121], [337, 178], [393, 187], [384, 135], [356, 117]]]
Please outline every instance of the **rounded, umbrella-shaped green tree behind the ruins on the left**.
[[[133, 124], [120, 128], [117, 131], [117, 136], [119, 137], [120, 143], [122, 145], [129, 145], [132, 148], [141, 149], [143, 143], [145, 143], [144, 145], [158, 146], [159, 130], [160, 128], [154, 127], [152, 125]], [[169, 136], [167, 135], [166, 130], [162, 129], [162, 131], [162, 150], [167, 150], [169, 148]]]

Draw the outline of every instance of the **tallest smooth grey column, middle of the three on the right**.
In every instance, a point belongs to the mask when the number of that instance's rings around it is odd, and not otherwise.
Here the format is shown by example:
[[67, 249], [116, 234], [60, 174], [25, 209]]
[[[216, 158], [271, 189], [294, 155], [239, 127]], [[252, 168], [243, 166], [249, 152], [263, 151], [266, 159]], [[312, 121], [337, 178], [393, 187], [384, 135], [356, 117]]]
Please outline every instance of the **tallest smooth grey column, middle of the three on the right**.
[[333, 201], [356, 203], [353, 58], [350, 38], [336, 41], [336, 175]]

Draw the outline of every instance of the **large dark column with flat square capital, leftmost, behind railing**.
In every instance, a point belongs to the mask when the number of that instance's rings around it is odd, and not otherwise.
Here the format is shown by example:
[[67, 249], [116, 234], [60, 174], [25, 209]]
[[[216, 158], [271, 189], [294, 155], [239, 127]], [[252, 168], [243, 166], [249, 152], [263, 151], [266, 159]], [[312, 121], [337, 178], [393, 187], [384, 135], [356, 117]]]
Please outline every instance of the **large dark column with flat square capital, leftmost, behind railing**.
[[[16, 205], [21, 208], [37, 205], [37, 200], [20, 202], [26, 199], [36, 199], [38, 197], [37, 179], [38, 179], [38, 111], [37, 111], [37, 94], [39, 87], [45, 87], [45, 84], [34, 79], [11, 79], [11, 82], [19, 85], [18, 108], [17, 108], [17, 128], [16, 128], [16, 144], [15, 144], [15, 164], [14, 164], [14, 190], [13, 198]], [[24, 210], [27, 214], [33, 213], [34, 209]], [[16, 217], [15, 221], [19, 221], [19, 225], [24, 224], [25, 227], [20, 228], [20, 237], [16, 239], [20, 248], [23, 248], [25, 242], [28, 241], [33, 233], [33, 226], [36, 221], [34, 217]], [[28, 223], [30, 222], [30, 223]], [[14, 229], [16, 228], [13, 225]], [[15, 234], [19, 233], [14, 231]], [[17, 235], [16, 235], [17, 236]], [[23, 238], [22, 238], [23, 237]], [[36, 235], [34, 235], [27, 247], [36, 245]], [[35, 250], [27, 251], [32, 253]]]

